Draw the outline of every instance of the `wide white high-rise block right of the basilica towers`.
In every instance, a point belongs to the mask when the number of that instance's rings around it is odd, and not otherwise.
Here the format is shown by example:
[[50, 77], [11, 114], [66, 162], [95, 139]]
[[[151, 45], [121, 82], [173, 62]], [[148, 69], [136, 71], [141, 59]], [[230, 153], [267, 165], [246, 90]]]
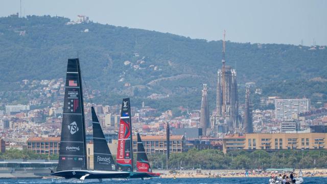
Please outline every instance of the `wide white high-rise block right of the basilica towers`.
[[275, 99], [275, 118], [292, 119], [292, 114], [309, 110], [309, 99]]

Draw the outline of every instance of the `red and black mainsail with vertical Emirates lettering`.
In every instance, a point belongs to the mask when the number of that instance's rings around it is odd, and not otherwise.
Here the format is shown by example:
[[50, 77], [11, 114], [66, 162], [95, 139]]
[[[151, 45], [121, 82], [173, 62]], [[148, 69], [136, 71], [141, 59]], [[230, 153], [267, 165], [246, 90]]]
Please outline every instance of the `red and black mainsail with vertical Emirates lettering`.
[[118, 131], [117, 169], [133, 171], [132, 124], [129, 98], [123, 99]]

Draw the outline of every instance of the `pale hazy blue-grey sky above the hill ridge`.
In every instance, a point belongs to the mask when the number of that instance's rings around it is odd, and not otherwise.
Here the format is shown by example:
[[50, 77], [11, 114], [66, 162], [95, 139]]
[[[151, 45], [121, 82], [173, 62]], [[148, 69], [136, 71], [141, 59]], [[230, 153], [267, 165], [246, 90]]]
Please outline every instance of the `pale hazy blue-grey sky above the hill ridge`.
[[[19, 12], [20, 0], [0, 0], [0, 16]], [[24, 15], [76, 20], [234, 42], [327, 45], [327, 1], [97, 1], [22, 0]]]

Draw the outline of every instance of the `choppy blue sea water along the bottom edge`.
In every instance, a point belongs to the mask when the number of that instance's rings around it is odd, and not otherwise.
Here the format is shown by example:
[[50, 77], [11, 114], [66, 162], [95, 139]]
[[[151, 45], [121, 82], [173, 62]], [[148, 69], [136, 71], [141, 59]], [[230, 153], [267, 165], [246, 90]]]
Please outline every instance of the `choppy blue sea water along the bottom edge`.
[[[327, 183], [327, 177], [305, 177], [304, 183], [313, 184], [313, 183]], [[222, 184], [222, 183], [241, 183], [241, 184], [267, 184], [269, 178], [154, 178], [148, 180], [141, 179], [129, 179], [129, 180], [105, 180], [102, 183], [145, 183], [145, 184]], [[0, 179], [0, 183], [9, 184], [9, 183], [76, 183], [81, 182], [79, 180], [52, 180], [52, 179]], [[99, 183], [95, 180], [85, 180], [84, 183]]]

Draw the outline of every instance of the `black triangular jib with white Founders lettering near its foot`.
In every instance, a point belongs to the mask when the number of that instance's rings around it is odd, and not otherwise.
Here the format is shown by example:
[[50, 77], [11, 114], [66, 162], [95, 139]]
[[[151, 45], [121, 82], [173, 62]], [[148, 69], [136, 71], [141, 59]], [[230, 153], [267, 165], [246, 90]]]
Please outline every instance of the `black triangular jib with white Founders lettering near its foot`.
[[92, 128], [93, 128], [93, 150], [94, 150], [94, 170], [115, 171], [115, 164], [112, 158], [107, 141], [103, 134], [94, 107], [92, 112]]

